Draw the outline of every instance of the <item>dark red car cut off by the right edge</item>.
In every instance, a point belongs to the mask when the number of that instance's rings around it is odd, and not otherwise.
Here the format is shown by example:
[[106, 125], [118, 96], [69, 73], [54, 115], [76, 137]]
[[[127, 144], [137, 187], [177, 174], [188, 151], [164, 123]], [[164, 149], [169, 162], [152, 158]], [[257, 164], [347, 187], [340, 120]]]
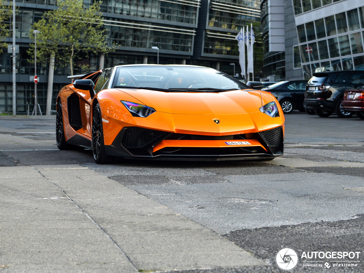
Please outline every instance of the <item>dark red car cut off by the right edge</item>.
[[358, 118], [364, 119], [364, 88], [345, 90], [342, 105], [344, 110], [355, 112]]

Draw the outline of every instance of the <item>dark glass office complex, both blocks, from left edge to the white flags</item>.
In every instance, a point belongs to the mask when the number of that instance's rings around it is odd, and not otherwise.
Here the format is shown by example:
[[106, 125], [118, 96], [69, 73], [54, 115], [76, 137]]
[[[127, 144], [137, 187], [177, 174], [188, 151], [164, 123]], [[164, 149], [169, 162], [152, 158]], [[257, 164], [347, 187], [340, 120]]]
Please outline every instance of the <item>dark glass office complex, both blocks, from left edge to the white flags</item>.
[[[87, 6], [92, 0], [84, 0]], [[118, 64], [157, 63], [194, 64], [218, 68], [233, 75], [234, 62], [238, 65], [237, 32], [244, 25], [260, 20], [259, 0], [103, 0], [104, 26], [107, 41], [117, 45], [117, 50], [106, 54], [103, 67]], [[16, 0], [17, 54], [17, 113], [25, 114], [29, 105], [34, 107], [34, 65], [27, 54], [32, 24], [43, 13], [56, 8], [56, 0]], [[9, 22], [9, 26], [10, 26]], [[11, 39], [7, 39], [11, 43]], [[83, 65], [98, 70], [100, 54], [79, 56], [74, 74], [82, 74]], [[12, 111], [12, 58], [5, 50], [0, 54], [0, 112]], [[36, 74], [37, 103], [46, 114], [48, 66], [38, 62]], [[54, 74], [55, 98], [60, 88], [70, 83], [69, 66], [57, 66]], [[47, 113], [48, 114], [48, 113]]]

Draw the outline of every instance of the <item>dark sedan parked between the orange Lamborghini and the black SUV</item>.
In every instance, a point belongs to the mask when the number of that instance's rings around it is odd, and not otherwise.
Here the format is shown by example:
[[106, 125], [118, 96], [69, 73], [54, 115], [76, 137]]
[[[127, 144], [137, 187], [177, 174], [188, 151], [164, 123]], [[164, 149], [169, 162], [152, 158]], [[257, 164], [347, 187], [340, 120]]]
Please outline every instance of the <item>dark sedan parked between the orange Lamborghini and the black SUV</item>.
[[289, 114], [294, 109], [304, 112], [303, 100], [305, 99], [306, 83], [306, 80], [282, 81], [263, 90], [271, 92], [277, 98], [284, 114]]

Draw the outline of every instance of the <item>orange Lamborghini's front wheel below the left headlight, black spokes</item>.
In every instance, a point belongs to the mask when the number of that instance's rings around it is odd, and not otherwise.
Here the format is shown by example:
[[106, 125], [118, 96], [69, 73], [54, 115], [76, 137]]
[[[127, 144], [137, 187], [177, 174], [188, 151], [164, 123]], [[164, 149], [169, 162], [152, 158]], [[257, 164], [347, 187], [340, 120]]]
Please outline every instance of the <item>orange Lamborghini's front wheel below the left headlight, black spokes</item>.
[[107, 155], [104, 145], [104, 134], [102, 128], [102, 116], [100, 105], [96, 104], [92, 116], [92, 154], [98, 164], [110, 164], [114, 157]]

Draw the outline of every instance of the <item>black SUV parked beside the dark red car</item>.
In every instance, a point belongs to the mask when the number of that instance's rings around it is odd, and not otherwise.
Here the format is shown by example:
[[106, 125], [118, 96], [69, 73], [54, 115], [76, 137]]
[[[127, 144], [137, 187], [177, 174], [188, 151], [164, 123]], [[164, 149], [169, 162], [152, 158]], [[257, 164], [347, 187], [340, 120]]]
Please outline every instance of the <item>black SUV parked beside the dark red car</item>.
[[306, 84], [306, 109], [314, 109], [318, 116], [329, 116], [333, 112], [340, 118], [348, 118], [352, 112], [341, 105], [347, 89], [357, 89], [364, 84], [364, 71], [335, 71], [313, 73]]

